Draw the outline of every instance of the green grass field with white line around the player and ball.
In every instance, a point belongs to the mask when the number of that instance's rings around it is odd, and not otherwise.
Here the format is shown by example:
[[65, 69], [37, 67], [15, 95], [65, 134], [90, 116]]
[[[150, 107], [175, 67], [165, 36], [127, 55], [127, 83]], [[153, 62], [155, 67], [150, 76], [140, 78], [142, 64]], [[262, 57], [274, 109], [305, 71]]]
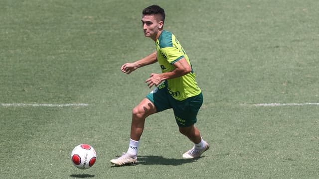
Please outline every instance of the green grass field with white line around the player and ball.
[[[120, 70], [155, 50], [140, 21], [155, 3], [196, 72], [204, 94], [196, 126], [211, 149], [183, 160], [192, 144], [167, 110], [147, 119], [139, 165], [112, 167], [128, 148], [131, 110], [150, 91], [144, 81], [160, 73], [157, 64], [129, 76]], [[318, 0], [0, 0], [0, 178], [318, 179], [318, 7]], [[54, 106], [79, 103], [88, 105]], [[270, 103], [287, 105], [254, 105]], [[80, 143], [97, 151], [89, 170], [71, 163]]]

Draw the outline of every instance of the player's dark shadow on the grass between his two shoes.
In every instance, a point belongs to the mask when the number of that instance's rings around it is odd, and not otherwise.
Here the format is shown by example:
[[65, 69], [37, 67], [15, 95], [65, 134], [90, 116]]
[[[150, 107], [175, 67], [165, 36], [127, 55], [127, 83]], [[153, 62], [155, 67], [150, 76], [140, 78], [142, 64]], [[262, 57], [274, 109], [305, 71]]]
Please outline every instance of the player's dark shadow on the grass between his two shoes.
[[192, 163], [200, 159], [167, 159], [162, 156], [138, 156], [138, 165], [166, 165], [179, 166], [187, 163]]

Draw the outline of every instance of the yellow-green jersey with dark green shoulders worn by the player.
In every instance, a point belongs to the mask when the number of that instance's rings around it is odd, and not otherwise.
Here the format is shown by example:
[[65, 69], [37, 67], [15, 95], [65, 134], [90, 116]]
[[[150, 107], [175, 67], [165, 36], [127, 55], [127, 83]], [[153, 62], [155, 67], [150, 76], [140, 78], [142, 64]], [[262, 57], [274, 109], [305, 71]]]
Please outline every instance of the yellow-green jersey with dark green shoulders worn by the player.
[[[162, 73], [173, 71], [175, 69], [173, 64], [182, 58], [185, 58], [191, 66], [183, 47], [172, 33], [166, 30], [162, 31], [155, 43]], [[170, 95], [177, 100], [184, 100], [201, 92], [197, 86], [193, 68], [191, 73], [167, 80], [167, 89]]]

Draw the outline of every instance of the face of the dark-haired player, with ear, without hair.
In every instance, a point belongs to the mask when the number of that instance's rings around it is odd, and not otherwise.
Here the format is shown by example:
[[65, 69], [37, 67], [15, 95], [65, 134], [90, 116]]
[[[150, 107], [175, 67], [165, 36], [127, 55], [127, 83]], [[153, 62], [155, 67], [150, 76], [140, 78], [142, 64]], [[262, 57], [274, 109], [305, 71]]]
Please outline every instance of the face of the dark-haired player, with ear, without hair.
[[158, 21], [155, 15], [143, 15], [142, 24], [144, 35], [156, 40], [160, 30], [162, 30], [163, 22]]

